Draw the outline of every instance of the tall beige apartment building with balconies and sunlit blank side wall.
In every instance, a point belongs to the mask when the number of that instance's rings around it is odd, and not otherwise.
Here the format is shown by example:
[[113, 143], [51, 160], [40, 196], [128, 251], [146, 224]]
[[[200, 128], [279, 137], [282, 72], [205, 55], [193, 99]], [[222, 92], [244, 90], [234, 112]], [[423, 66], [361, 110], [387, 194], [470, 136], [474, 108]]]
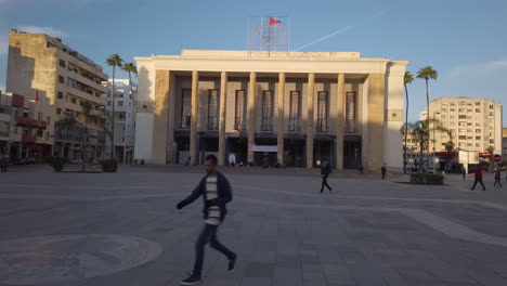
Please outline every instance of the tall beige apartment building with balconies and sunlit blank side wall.
[[[6, 92], [20, 94], [25, 101], [54, 106], [41, 113], [48, 122], [48, 145], [51, 154], [68, 158], [81, 158], [83, 145], [89, 145], [89, 157], [102, 157], [105, 133], [103, 119], [95, 119], [84, 129], [58, 129], [57, 121], [74, 118], [84, 125], [82, 105], [93, 106], [92, 113], [100, 117], [105, 101], [102, 86], [107, 75], [102, 67], [64, 44], [61, 39], [42, 34], [26, 34], [13, 29], [9, 38]], [[18, 114], [17, 116], [21, 116]]]

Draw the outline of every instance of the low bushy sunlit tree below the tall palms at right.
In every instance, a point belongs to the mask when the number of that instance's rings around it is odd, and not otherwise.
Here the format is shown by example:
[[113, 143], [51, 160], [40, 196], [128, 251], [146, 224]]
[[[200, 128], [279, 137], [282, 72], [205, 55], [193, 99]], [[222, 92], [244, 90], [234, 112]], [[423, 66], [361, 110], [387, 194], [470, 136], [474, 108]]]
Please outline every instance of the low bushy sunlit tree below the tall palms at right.
[[[419, 144], [419, 160], [420, 166], [422, 166], [422, 157], [425, 155], [425, 150], [429, 150], [429, 136], [432, 131], [441, 131], [447, 134], [451, 134], [451, 131], [441, 126], [440, 120], [435, 118], [430, 118], [427, 120], [419, 120], [416, 122], [408, 123], [408, 128], [401, 128], [401, 133], [404, 135], [411, 135], [414, 142]], [[429, 168], [427, 160], [427, 169]]]

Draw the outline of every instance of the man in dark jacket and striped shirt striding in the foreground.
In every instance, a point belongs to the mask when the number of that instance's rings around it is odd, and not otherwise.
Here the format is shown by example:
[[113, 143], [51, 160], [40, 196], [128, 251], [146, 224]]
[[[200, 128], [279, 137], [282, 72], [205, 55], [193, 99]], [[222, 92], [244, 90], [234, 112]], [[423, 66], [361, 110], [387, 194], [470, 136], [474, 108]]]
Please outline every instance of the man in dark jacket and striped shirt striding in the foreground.
[[199, 196], [203, 196], [205, 225], [195, 243], [194, 270], [192, 275], [181, 281], [181, 285], [202, 283], [200, 275], [203, 272], [205, 246], [208, 243], [212, 248], [222, 252], [227, 258], [229, 272], [233, 272], [236, 265], [237, 255], [222, 245], [217, 237], [218, 227], [227, 213], [225, 205], [232, 200], [231, 184], [222, 173], [217, 171], [217, 161], [218, 159], [214, 155], [206, 156], [206, 176], [200, 180], [192, 194], [177, 205], [178, 209], [182, 209], [186, 205], [192, 204]]

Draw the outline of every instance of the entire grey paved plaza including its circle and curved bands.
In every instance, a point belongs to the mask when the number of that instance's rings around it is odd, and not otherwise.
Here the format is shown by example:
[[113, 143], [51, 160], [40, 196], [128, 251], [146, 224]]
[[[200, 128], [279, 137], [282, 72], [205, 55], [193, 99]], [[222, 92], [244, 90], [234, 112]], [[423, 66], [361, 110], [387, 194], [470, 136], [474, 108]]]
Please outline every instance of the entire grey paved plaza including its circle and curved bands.
[[[203, 285], [507, 285], [507, 183], [446, 185], [355, 172], [225, 170], [234, 199], [219, 237], [237, 269], [206, 249]], [[200, 199], [177, 210], [195, 168], [0, 174], [0, 285], [179, 285], [203, 227]], [[505, 179], [504, 179], [505, 182]]]

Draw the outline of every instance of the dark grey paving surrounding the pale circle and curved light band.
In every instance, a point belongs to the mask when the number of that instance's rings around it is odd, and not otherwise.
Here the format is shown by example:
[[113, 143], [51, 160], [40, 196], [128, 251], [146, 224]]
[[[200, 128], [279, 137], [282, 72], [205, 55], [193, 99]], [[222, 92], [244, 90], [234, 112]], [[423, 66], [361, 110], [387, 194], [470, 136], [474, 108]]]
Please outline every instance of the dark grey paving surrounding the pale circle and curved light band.
[[[9, 187], [0, 190], [0, 257], [1, 239], [117, 234], [158, 243], [164, 252], [138, 268], [58, 286], [178, 285], [192, 269], [202, 202], [182, 211], [174, 205], [202, 174], [140, 169], [90, 181], [37, 172], [37, 193], [21, 174], [2, 177]], [[226, 273], [225, 258], [207, 247], [204, 285], [507, 285], [507, 248], [456, 239], [399, 211], [379, 211], [422, 209], [502, 236], [504, 193], [461, 192], [466, 185], [459, 181], [428, 187], [335, 177], [330, 182], [339, 193], [324, 196], [313, 192], [318, 178], [276, 180], [230, 177], [235, 197], [219, 237], [239, 262]], [[2, 271], [0, 264], [0, 285]]]

